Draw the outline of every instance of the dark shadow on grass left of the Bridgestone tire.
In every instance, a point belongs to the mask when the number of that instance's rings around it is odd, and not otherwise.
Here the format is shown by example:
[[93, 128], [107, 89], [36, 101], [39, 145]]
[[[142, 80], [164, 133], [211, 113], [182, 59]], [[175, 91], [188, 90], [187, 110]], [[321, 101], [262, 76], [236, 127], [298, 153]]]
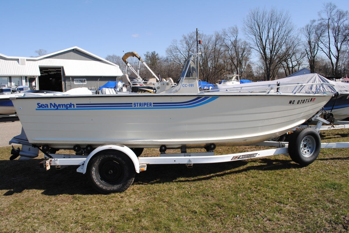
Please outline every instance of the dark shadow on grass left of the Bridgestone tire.
[[9, 190], [4, 196], [21, 193], [29, 189], [43, 190], [44, 195], [95, 194], [86, 184], [82, 173], [76, 172], [78, 166], [68, 166], [62, 170], [39, 168], [43, 159], [28, 161], [0, 161], [0, 190]]

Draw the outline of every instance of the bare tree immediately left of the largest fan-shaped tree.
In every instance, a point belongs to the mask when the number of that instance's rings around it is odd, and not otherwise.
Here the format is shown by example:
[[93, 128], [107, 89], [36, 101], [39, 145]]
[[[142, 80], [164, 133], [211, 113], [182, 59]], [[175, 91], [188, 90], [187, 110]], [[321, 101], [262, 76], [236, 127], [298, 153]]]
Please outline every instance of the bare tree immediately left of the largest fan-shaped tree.
[[246, 41], [238, 38], [238, 34], [237, 26], [223, 29], [223, 48], [228, 70], [242, 75], [250, 60], [251, 48]]

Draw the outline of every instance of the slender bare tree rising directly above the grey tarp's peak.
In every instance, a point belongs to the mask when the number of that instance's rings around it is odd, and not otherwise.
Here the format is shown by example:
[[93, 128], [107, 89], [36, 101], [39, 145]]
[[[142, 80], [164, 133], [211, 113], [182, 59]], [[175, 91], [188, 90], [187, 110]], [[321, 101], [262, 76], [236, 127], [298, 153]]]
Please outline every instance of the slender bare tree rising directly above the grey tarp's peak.
[[309, 62], [310, 72], [316, 73], [316, 59], [319, 52], [319, 39], [322, 31], [316, 23], [316, 20], [311, 20], [309, 24], [305, 25], [302, 29], [302, 33], [305, 37], [305, 53]]

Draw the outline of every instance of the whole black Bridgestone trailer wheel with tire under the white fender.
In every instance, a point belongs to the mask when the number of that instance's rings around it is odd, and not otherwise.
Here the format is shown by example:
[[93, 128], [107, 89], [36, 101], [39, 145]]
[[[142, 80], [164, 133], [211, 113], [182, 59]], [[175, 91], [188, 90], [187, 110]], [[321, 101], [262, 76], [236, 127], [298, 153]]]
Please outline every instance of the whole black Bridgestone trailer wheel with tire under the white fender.
[[98, 192], [124, 192], [132, 185], [135, 168], [131, 159], [117, 150], [103, 150], [91, 161], [89, 180]]

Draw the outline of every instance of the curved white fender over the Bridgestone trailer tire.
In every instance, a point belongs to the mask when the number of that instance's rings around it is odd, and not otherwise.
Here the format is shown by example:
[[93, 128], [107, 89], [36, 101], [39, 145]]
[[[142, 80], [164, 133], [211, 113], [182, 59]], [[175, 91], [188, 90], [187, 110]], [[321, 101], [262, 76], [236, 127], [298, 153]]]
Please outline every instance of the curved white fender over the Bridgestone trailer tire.
[[125, 153], [129, 158], [131, 158], [136, 172], [139, 173], [139, 161], [138, 161], [137, 156], [135, 155], [135, 153], [130, 148], [128, 148], [127, 146], [124, 146], [124, 145], [104, 145], [104, 146], [99, 146], [96, 149], [92, 150], [92, 152], [86, 158], [86, 161], [85, 161], [82, 173], [83, 174], [86, 173], [87, 165], [88, 165], [90, 159], [95, 154], [97, 154], [98, 152], [101, 152], [102, 150], [110, 150], [110, 149], [112, 149], [112, 150], [119, 150], [119, 151]]

